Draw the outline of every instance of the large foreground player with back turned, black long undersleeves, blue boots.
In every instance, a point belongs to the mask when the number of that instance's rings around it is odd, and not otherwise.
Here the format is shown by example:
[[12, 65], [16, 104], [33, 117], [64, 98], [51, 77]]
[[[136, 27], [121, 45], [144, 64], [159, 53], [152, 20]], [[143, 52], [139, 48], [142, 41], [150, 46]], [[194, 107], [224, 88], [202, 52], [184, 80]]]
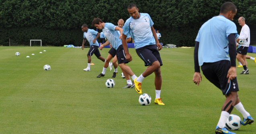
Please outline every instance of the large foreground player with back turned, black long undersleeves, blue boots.
[[236, 6], [232, 2], [225, 2], [219, 16], [211, 18], [201, 26], [195, 40], [193, 82], [199, 86], [202, 80], [201, 66], [205, 77], [226, 97], [215, 134], [235, 134], [225, 128], [225, 122], [233, 107], [244, 116], [242, 125], [254, 122], [238, 98], [235, 40], [237, 30], [236, 24], [232, 22], [236, 13]]

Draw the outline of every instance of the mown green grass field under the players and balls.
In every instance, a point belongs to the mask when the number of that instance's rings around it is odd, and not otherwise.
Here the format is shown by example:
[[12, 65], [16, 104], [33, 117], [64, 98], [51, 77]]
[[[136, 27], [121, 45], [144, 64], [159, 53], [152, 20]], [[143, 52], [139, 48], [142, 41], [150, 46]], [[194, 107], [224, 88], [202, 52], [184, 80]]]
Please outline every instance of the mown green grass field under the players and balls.
[[[100, 51], [101, 55], [106, 57], [108, 50]], [[140, 106], [135, 89], [122, 88], [126, 80], [121, 78], [121, 68], [113, 78], [115, 88], [105, 86], [113, 74], [109, 68], [104, 77], [96, 78], [104, 64], [96, 56], [92, 56], [95, 65], [91, 71], [83, 71], [88, 48], [2, 46], [0, 134], [213, 134], [225, 97], [204, 76], [200, 86], [193, 83], [193, 51], [160, 51], [164, 64], [161, 98], [166, 105], [154, 104], [152, 74], [142, 83], [143, 93], [152, 96], [152, 103]], [[146, 67], [134, 49], [129, 52], [133, 61], [128, 65], [139, 76]], [[237, 68], [239, 95], [246, 110], [256, 118], [256, 64], [247, 61], [249, 75], [240, 75], [242, 68]], [[45, 64], [51, 65], [50, 71], [43, 70]], [[235, 108], [232, 114], [242, 118]], [[255, 134], [256, 124], [233, 132]]]

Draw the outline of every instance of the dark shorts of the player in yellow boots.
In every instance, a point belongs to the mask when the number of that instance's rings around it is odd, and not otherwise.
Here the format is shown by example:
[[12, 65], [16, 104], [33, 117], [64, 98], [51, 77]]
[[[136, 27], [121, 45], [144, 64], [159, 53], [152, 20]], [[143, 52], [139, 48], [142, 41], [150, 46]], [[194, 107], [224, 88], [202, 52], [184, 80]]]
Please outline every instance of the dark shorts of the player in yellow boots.
[[143, 46], [142, 48], [137, 48], [136, 52], [139, 58], [144, 61], [145, 66], [150, 66], [157, 60], [160, 63], [160, 66], [163, 65], [160, 53], [158, 52], [156, 45], [147, 45]]

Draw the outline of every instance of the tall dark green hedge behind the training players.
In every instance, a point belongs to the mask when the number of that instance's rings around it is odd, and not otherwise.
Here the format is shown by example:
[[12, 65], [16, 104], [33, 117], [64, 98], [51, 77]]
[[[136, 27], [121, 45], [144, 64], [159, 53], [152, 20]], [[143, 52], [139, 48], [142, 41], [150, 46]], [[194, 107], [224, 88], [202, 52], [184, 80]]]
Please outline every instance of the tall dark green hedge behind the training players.
[[[117, 24], [129, 18], [127, 6], [137, 4], [139, 12], [150, 14], [154, 28], [160, 30], [164, 44], [194, 46], [200, 26], [219, 14], [225, 0], [2, 0], [0, 2], [0, 45], [8, 38], [20, 44], [30, 39], [42, 39], [43, 44], [63, 46], [82, 44], [82, 24], [89, 28], [93, 18]], [[233, 0], [238, 8], [234, 22], [244, 16], [251, 32], [256, 27], [256, 1]], [[252, 35], [251, 35], [252, 36]], [[253, 39], [252, 41], [253, 42]]]

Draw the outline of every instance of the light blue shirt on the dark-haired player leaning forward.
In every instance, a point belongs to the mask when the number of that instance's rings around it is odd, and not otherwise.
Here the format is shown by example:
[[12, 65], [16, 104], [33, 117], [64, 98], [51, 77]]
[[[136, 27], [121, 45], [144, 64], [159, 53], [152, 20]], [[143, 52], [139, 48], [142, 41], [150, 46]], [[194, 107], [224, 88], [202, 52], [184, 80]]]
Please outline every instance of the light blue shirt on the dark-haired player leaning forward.
[[117, 26], [112, 23], [105, 23], [102, 29], [106, 39], [112, 44], [112, 47], [117, 50], [117, 48], [122, 45], [122, 40], [120, 39], [120, 33], [115, 30]]

